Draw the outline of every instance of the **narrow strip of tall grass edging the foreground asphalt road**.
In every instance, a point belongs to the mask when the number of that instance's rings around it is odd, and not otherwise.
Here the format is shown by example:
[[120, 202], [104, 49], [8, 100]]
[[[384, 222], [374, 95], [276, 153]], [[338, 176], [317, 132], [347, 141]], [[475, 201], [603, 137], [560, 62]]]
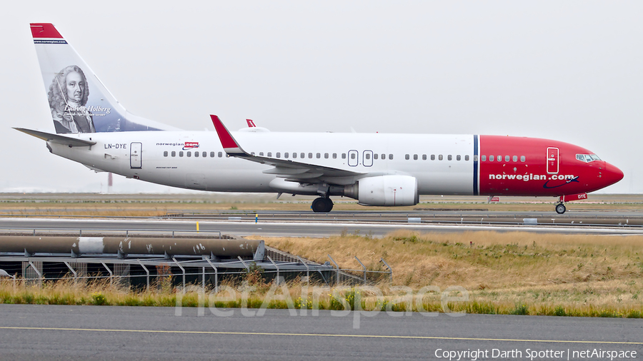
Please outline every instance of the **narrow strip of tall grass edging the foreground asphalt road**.
[[[259, 287], [258, 287], [259, 286]], [[244, 291], [244, 287], [249, 292]], [[189, 285], [186, 293], [181, 288], [172, 290], [131, 291], [96, 282], [74, 285], [69, 280], [30, 285], [17, 281], [0, 283], [0, 303], [36, 305], [113, 305], [174, 307], [246, 307], [295, 310], [378, 310], [387, 312], [467, 312], [491, 315], [550, 315], [575, 317], [629, 317], [643, 318], [643, 309], [624, 305], [536, 305], [533, 302], [510, 303], [469, 300], [445, 304], [439, 293], [414, 295], [403, 299], [393, 288], [379, 285], [378, 298], [372, 288], [339, 285], [327, 288], [321, 285], [306, 287], [300, 281], [287, 285], [223, 285], [219, 293], [207, 290], [206, 296], [197, 285]], [[246, 292], [245, 294], [241, 294]], [[232, 295], [232, 297], [230, 297]], [[447, 308], [448, 307], [448, 308]]]

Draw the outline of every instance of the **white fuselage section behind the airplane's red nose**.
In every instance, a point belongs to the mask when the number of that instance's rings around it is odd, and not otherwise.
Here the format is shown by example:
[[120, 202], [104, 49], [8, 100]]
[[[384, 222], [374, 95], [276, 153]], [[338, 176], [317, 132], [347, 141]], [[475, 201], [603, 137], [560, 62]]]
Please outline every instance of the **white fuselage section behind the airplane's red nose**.
[[[246, 152], [258, 156], [363, 173], [333, 178], [329, 183], [350, 185], [364, 176], [402, 174], [417, 178], [419, 194], [474, 194], [472, 135], [261, 131], [233, 134]], [[52, 153], [96, 171], [173, 187], [294, 193], [279, 185], [284, 182], [283, 176], [277, 179], [274, 174], [262, 173], [272, 166], [226, 156], [216, 132], [131, 131], [77, 137], [96, 141], [96, 145], [70, 148], [49, 142]], [[199, 156], [195, 156], [196, 152]]]

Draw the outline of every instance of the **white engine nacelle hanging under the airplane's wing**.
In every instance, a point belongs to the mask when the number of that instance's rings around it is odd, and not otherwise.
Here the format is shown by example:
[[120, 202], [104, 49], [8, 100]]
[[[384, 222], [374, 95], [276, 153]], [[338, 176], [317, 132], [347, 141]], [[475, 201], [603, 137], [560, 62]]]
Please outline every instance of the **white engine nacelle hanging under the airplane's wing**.
[[416, 205], [417, 179], [412, 176], [377, 176], [357, 180], [347, 185], [344, 195], [357, 198], [361, 205]]

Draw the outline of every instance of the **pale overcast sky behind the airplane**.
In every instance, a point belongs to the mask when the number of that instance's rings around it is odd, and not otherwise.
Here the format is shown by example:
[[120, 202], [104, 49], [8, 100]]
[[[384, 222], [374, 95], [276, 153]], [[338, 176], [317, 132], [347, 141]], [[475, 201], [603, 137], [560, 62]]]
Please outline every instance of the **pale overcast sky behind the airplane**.
[[[643, 193], [643, 1], [9, 1], [0, 192], [106, 191], [53, 131], [30, 22], [131, 112], [189, 130], [476, 133], [577, 144]], [[118, 192], [174, 192], [114, 176]]]

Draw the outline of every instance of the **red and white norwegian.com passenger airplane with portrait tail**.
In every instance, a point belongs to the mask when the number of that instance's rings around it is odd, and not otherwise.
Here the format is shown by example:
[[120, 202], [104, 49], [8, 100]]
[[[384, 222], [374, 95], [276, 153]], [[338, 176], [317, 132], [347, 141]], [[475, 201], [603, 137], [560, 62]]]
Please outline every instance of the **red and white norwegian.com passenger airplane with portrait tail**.
[[97, 172], [195, 190], [317, 195], [311, 210], [320, 213], [336, 196], [403, 206], [419, 195], [523, 195], [557, 197], [562, 214], [564, 203], [623, 178], [586, 148], [542, 138], [285, 133], [251, 120], [230, 132], [214, 115], [216, 135], [184, 131], [127, 112], [52, 24], [31, 24], [31, 34], [55, 132], [16, 129]]

